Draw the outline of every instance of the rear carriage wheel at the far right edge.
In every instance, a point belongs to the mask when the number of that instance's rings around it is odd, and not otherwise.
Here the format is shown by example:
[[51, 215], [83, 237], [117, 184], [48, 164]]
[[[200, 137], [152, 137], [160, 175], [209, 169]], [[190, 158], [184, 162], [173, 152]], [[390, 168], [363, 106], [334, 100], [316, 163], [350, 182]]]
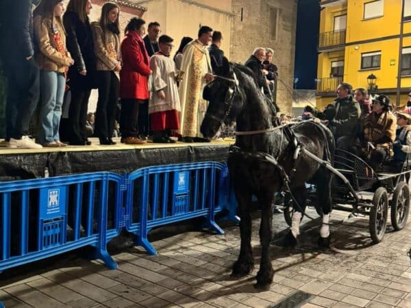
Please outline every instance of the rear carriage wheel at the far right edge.
[[406, 182], [399, 182], [394, 190], [391, 203], [391, 224], [395, 231], [406, 227], [408, 214], [410, 213], [410, 188]]

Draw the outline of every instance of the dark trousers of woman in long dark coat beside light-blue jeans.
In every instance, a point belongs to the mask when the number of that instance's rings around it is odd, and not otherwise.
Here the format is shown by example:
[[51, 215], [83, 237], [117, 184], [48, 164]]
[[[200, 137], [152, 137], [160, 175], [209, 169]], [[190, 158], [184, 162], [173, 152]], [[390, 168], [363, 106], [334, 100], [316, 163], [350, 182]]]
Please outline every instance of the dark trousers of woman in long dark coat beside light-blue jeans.
[[71, 103], [69, 109], [69, 127], [71, 135], [69, 142], [82, 143], [87, 140], [86, 121], [90, 89], [71, 88]]

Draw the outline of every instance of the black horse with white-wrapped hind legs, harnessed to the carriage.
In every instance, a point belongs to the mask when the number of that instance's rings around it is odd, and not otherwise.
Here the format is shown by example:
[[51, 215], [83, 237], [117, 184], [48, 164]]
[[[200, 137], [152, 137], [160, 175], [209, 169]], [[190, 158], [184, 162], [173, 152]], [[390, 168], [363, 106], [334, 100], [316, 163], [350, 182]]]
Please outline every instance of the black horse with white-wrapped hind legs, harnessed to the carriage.
[[[308, 182], [316, 184], [319, 205], [323, 209], [319, 244], [329, 244], [332, 175], [308, 157], [305, 151], [298, 152], [303, 147], [320, 159], [332, 161], [334, 138], [329, 129], [312, 121], [301, 122], [291, 128], [278, 127], [277, 107], [257, 88], [256, 77], [249, 68], [229, 63], [224, 58], [221, 70], [216, 73], [219, 77], [203, 92], [204, 99], [210, 103], [201, 124], [201, 133], [206, 138], [212, 138], [222, 123], [229, 124], [236, 120], [236, 144], [229, 155], [228, 167], [241, 218], [241, 246], [232, 275], [240, 277], [253, 269], [251, 196], [254, 194], [262, 207], [262, 255], [256, 287], [266, 289], [273, 281], [269, 245], [272, 240], [274, 194], [288, 183], [284, 180], [286, 177], [290, 177], [290, 192], [299, 205], [295, 207], [286, 242], [297, 244], [299, 223], [306, 207], [305, 184]], [[276, 161], [278, 164], [275, 164]]]

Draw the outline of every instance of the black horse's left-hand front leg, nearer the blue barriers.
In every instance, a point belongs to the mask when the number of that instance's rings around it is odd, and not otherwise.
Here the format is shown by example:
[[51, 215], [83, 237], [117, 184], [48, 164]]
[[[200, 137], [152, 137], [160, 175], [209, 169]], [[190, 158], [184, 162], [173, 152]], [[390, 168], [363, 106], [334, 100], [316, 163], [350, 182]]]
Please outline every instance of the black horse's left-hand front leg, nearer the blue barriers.
[[251, 272], [254, 268], [253, 251], [251, 249], [251, 191], [245, 185], [235, 180], [234, 187], [238, 209], [240, 210], [240, 235], [241, 246], [238, 260], [234, 262], [232, 276], [242, 277]]

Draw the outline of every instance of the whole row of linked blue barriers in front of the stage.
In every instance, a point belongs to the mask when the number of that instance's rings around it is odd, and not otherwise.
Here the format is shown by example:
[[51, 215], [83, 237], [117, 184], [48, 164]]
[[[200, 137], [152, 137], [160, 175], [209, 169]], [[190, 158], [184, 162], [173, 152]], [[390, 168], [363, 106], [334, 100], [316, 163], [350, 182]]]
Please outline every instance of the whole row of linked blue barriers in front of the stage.
[[87, 245], [117, 268], [106, 246], [122, 229], [156, 254], [150, 229], [203, 216], [222, 234], [214, 216], [223, 209], [239, 221], [227, 165], [217, 162], [0, 183], [0, 272]]

